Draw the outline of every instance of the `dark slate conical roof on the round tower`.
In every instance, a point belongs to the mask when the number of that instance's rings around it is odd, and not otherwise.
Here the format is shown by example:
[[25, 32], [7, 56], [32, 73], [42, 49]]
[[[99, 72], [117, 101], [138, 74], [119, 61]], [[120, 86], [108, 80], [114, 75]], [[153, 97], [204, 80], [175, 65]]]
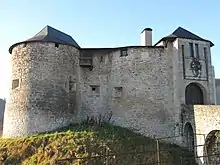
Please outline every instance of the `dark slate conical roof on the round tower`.
[[12, 52], [12, 49], [21, 43], [28, 43], [28, 42], [54, 42], [59, 44], [65, 44], [65, 45], [72, 45], [74, 47], [80, 48], [80, 46], [76, 43], [76, 41], [68, 34], [63, 33], [51, 26], [45, 26], [39, 33], [37, 33], [34, 37], [13, 44], [9, 48], [9, 52]]

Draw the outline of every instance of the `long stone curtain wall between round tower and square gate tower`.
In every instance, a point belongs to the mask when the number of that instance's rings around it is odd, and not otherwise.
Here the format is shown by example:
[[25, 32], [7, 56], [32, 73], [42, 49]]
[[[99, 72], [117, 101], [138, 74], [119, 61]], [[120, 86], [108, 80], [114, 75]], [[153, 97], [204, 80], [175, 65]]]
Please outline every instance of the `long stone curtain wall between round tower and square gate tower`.
[[122, 49], [90, 50], [94, 68], [81, 69], [85, 114], [112, 111], [116, 125], [150, 137], [173, 135], [172, 55], [162, 47], [128, 47], [120, 57]]

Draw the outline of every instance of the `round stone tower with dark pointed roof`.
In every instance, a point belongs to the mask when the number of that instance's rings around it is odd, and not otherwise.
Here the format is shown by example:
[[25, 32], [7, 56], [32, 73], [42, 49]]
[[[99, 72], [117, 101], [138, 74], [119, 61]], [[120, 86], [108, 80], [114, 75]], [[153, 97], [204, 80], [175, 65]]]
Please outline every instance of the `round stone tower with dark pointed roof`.
[[79, 45], [50, 26], [9, 48], [12, 85], [3, 137], [47, 132], [77, 121]]

